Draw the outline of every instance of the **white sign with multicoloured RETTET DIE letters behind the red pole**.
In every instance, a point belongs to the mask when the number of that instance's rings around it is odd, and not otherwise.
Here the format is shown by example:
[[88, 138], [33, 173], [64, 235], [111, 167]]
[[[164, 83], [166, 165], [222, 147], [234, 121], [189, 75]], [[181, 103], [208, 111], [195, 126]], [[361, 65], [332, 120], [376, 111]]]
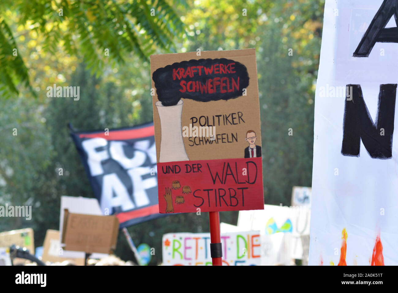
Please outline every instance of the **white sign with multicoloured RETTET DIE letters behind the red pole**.
[[[221, 234], [222, 265], [259, 265], [259, 231]], [[168, 233], [162, 238], [163, 265], [212, 265], [210, 233]]]

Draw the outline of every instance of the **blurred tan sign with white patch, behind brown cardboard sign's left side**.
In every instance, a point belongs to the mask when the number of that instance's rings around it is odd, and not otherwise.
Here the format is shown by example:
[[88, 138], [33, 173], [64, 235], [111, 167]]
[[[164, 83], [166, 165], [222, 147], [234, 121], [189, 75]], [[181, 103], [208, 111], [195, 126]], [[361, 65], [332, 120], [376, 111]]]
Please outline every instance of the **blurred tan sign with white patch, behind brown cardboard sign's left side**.
[[59, 242], [59, 231], [47, 230], [43, 244], [43, 262], [63, 262], [71, 260], [76, 265], [84, 265], [84, 258], [65, 258]]

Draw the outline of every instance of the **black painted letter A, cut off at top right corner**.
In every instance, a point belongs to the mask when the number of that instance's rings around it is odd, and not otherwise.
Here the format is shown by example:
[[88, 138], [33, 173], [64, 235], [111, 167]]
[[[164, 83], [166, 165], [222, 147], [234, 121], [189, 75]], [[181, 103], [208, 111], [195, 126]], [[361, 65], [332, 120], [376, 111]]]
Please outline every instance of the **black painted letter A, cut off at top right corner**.
[[398, 0], [384, 0], [354, 52], [354, 57], [368, 57], [376, 42], [398, 43], [398, 28], [385, 28], [394, 15], [398, 26]]

